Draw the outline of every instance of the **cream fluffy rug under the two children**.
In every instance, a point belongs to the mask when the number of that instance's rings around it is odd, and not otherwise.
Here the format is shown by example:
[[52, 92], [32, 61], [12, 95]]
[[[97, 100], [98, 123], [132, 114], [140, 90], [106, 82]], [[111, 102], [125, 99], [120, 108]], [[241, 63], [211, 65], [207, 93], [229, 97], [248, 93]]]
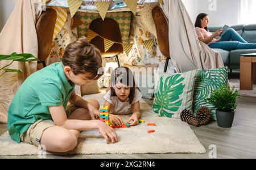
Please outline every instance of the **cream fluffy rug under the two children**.
[[[84, 96], [99, 99], [102, 104], [102, 94]], [[106, 144], [97, 130], [83, 131], [79, 145], [66, 154], [146, 154], [146, 153], [204, 153], [205, 148], [190, 126], [179, 119], [157, 117], [150, 106], [141, 101], [141, 110], [145, 123], [130, 128], [117, 129], [118, 142]], [[129, 116], [123, 116], [127, 120]], [[147, 126], [148, 122], [156, 126]], [[154, 133], [147, 130], [154, 129]], [[27, 143], [14, 142], [6, 132], [0, 136], [0, 155], [38, 155], [38, 147]], [[46, 153], [53, 154], [50, 152]]]

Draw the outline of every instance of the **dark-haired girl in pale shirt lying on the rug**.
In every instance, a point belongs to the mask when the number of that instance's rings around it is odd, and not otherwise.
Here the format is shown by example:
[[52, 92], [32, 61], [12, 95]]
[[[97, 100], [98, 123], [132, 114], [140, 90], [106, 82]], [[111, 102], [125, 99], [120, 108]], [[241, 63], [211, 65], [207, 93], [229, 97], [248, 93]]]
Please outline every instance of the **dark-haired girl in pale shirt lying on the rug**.
[[138, 87], [135, 87], [133, 73], [127, 67], [118, 67], [113, 71], [110, 90], [104, 96], [105, 106], [110, 108], [110, 123], [121, 127], [125, 122], [118, 115], [133, 113], [127, 121], [130, 126], [138, 124], [141, 118], [139, 100], [142, 94]]

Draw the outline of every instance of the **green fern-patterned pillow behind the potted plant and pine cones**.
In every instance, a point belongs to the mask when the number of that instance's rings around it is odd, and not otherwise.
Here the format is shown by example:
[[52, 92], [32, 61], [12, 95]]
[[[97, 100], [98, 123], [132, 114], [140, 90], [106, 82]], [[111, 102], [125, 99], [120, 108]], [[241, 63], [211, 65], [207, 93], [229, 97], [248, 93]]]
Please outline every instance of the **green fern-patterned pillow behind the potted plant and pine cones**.
[[200, 70], [197, 72], [193, 111], [196, 114], [200, 107], [208, 107], [212, 111], [212, 119], [216, 120], [216, 108], [207, 102], [214, 89], [218, 89], [222, 84], [228, 84], [228, 67], [221, 67], [212, 70]]

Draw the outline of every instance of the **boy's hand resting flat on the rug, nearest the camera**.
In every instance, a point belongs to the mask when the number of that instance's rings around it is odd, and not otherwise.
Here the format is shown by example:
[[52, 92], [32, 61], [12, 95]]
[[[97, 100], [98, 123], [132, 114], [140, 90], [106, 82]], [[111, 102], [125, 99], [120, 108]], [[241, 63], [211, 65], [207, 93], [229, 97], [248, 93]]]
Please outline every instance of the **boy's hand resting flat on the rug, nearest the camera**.
[[117, 133], [115, 133], [114, 129], [110, 126], [106, 125], [105, 122], [98, 121], [97, 129], [100, 131], [101, 135], [106, 139], [106, 143], [118, 142]]

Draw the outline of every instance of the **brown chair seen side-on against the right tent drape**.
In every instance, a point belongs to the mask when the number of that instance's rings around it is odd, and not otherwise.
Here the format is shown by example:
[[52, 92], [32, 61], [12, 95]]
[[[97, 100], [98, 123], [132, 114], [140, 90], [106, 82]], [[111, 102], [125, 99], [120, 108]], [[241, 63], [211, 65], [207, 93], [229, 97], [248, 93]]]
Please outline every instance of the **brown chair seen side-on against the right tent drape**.
[[153, 8], [152, 16], [156, 27], [156, 35], [158, 36], [159, 49], [167, 57], [164, 66], [164, 73], [166, 73], [170, 59], [168, 19], [159, 6]]

